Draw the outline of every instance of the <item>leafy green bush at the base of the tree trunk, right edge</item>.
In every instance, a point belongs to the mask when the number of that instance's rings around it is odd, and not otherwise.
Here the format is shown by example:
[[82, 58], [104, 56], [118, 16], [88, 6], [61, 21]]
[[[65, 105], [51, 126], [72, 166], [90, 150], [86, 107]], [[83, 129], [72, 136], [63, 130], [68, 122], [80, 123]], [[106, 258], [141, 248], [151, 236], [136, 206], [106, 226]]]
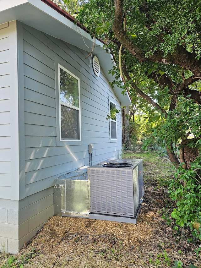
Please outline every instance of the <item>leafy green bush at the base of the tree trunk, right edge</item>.
[[198, 158], [189, 170], [184, 169], [181, 164], [175, 173], [175, 179], [169, 183], [170, 197], [177, 205], [171, 217], [175, 219], [177, 225], [181, 227], [188, 225], [191, 230], [193, 230], [193, 222], [201, 222], [200, 163], [201, 158]]

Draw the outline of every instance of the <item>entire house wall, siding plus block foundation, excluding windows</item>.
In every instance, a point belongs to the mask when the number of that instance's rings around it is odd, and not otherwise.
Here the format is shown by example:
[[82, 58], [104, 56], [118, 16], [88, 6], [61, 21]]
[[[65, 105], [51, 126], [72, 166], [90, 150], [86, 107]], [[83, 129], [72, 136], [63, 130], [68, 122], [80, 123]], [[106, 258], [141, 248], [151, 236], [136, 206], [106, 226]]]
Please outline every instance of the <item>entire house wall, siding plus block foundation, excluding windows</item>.
[[[89, 165], [89, 144], [92, 164], [121, 157], [121, 115], [115, 141], [106, 120], [120, 102], [87, 56], [20, 22], [0, 25], [0, 251], [16, 253], [53, 216], [55, 178]], [[58, 141], [57, 63], [80, 79], [82, 140], [68, 145]]]

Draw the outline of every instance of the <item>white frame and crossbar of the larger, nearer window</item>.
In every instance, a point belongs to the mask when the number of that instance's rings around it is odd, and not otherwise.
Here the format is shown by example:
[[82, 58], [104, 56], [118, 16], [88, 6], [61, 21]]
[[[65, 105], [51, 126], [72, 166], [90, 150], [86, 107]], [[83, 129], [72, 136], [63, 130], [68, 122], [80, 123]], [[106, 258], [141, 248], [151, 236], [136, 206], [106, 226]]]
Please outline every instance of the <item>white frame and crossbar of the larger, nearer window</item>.
[[[68, 74], [72, 75], [75, 79], [78, 80], [78, 94], [79, 94], [79, 108], [78, 107], [74, 107], [71, 105], [66, 105], [66, 103], [62, 102], [60, 100], [60, 68], [62, 70], [64, 70], [65, 72], [67, 72]], [[82, 140], [82, 135], [81, 135], [81, 99], [80, 99], [80, 79], [79, 77], [77, 77], [76, 75], [74, 75], [73, 73], [71, 73], [70, 71], [68, 71], [65, 67], [63, 67], [61, 64], [58, 63], [58, 89], [59, 89], [59, 140], [61, 142], [75, 142], [75, 141], [81, 141]], [[79, 111], [79, 139], [62, 139], [62, 131], [61, 131], [61, 105], [73, 108], [75, 110]]]

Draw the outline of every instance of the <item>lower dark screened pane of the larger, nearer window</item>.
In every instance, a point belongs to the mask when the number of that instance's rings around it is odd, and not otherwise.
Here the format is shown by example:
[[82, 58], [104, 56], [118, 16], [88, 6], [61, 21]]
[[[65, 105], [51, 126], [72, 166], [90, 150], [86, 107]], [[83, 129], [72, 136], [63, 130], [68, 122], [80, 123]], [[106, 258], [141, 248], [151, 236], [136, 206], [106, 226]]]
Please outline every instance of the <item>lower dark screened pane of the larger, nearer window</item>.
[[79, 111], [61, 105], [62, 139], [79, 139]]

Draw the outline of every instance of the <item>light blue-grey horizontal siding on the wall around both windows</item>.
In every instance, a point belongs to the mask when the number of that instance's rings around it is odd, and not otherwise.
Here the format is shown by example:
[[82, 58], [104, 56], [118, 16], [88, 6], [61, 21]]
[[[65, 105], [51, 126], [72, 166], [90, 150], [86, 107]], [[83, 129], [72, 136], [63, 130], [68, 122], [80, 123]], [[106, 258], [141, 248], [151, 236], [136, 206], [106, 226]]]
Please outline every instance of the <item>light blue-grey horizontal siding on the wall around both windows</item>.
[[[88, 52], [27, 25], [23, 25], [23, 50], [25, 190], [29, 195], [52, 186], [57, 176], [88, 165], [91, 143], [93, 161], [116, 156], [121, 138], [117, 143], [110, 142], [106, 117], [109, 99], [120, 104], [102, 70], [96, 77], [90, 58], [84, 59]], [[64, 60], [69, 71], [80, 78], [83, 145], [57, 146], [56, 143], [55, 57]], [[121, 124], [120, 117], [118, 124]]]

